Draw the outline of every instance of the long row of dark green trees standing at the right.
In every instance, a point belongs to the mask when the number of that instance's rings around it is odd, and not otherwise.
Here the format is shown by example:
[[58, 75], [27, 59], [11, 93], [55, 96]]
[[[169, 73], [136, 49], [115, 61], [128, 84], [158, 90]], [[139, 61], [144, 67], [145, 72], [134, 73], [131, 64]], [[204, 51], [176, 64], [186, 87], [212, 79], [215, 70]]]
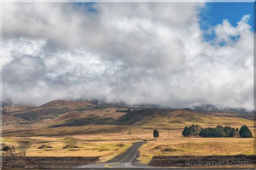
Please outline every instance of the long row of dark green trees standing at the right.
[[184, 127], [182, 135], [185, 137], [241, 137], [252, 138], [253, 134], [250, 129], [243, 125], [240, 130], [236, 127], [221, 126], [203, 128], [199, 125], [189, 125]]

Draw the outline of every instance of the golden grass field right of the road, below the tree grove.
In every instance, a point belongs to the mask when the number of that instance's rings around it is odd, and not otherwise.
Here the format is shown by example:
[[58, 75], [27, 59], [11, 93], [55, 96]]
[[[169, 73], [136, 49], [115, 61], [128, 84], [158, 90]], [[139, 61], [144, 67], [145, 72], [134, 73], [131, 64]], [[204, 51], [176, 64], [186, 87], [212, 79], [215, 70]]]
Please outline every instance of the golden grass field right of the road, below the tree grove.
[[[141, 163], [148, 163], [153, 156], [210, 156], [253, 155], [255, 138], [186, 138], [177, 136], [179, 131], [169, 131], [169, 138], [160, 136], [140, 147]], [[172, 151], [164, 151], [172, 148]]]

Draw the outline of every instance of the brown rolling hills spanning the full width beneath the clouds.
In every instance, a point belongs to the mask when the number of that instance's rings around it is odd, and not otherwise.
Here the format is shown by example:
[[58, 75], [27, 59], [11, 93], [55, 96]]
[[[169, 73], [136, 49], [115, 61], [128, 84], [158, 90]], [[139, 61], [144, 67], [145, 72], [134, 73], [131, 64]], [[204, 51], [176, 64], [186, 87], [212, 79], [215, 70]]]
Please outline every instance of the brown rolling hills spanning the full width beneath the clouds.
[[[4, 125], [40, 123], [47, 127], [75, 127], [86, 125], [133, 125], [143, 127], [182, 128], [184, 125], [240, 125], [246, 119], [209, 116], [189, 108], [137, 108], [130, 113], [116, 112], [116, 108], [87, 101], [54, 100], [39, 107], [3, 108]], [[17, 108], [20, 108], [18, 110]], [[249, 121], [250, 122], [250, 121]], [[249, 124], [249, 123], [247, 123]], [[250, 123], [251, 124], [251, 123]]]

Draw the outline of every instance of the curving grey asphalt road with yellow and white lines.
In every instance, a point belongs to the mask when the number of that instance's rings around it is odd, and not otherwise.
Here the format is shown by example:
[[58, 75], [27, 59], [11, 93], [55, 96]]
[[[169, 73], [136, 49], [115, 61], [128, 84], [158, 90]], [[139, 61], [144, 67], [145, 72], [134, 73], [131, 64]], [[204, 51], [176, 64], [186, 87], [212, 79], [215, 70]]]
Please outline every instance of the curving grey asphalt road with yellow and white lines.
[[134, 167], [131, 164], [131, 161], [135, 159], [137, 156], [137, 150], [141, 145], [143, 145], [145, 142], [136, 142], [134, 145], [129, 147], [122, 155], [117, 156], [116, 158], [112, 159], [109, 162], [102, 163], [102, 164], [89, 164], [89, 165], [83, 165], [79, 166], [78, 168], [128, 168], [128, 167]]

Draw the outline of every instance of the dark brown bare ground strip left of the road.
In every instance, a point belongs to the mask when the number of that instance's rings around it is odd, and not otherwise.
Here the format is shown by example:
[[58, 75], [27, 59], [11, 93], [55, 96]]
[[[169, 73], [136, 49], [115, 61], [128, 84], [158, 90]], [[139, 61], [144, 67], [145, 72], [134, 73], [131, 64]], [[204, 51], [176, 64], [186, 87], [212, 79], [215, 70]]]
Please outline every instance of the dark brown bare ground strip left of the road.
[[98, 160], [99, 157], [3, 156], [3, 169], [73, 168]]

